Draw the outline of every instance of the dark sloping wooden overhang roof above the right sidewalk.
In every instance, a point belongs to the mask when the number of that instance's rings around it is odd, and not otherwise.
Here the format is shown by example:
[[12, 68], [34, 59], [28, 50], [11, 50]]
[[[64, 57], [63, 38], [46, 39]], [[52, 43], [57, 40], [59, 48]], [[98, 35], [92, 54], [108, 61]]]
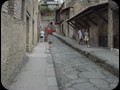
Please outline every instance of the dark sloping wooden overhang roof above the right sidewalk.
[[[88, 28], [90, 25], [88, 24], [88, 21], [93, 23], [94, 25], [98, 25], [98, 21], [93, 20], [92, 14], [95, 14], [96, 16], [103, 19], [106, 23], [108, 23], [108, 19], [106, 19], [104, 16], [101, 16], [99, 13], [102, 13], [103, 11], [108, 11], [108, 2], [107, 3], [101, 3], [94, 6], [90, 6], [82, 11], [80, 11], [77, 15], [71, 17], [67, 20], [68, 24], [70, 24], [72, 27], [80, 29], [80, 28]], [[79, 27], [78, 27], [79, 26]]]

